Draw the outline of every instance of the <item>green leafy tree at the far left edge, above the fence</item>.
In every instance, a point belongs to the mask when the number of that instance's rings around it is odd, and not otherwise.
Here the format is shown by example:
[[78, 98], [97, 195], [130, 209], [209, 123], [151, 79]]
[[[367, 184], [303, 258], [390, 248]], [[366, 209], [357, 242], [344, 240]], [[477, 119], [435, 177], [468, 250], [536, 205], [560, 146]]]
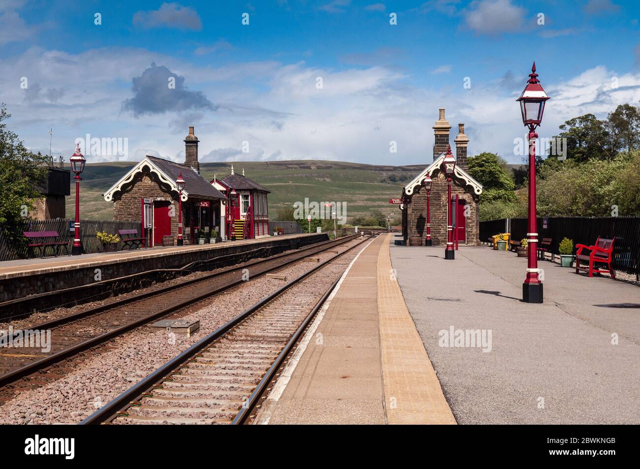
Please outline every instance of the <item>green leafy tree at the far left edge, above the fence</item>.
[[42, 198], [38, 186], [47, 176], [46, 155], [30, 152], [15, 132], [6, 127], [11, 115], [0, 106], [0, 227], [11, 244], [23, 241], [24, 215]]

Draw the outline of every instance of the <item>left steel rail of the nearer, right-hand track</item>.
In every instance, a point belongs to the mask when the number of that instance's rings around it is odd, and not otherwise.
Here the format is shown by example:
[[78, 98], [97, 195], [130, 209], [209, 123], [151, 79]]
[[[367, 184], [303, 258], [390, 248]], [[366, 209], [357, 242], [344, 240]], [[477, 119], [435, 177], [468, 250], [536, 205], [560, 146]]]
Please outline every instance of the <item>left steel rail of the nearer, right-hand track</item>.
[[280, 289], [276, 290], [275, 292], [270, 294], [268, 297], [263, 298], [257, 303], [255, 303], [254, 305], [250, 306], [249, 308], [244, 310], [241, 314], [237, 315], [230, 321], [220, 326], [220, 328], [216, 329], [206, 337], [200, 339], [198, 342], [193, 344], [193, 346], [189, 347], [179, 355], [175, 356], [168, 362], [164, 363], [164, 365], [162, 365], [156, 371], [149, 374], [146, 378], [142, 379], [136, 385], [132, 386], [128, 390], [116, 396], [115, 399], [112, 399], [105, 406], [98, 409], [97, 411], [92, 413], [92, 415], [82, 420], [82, 422], [80, 422], [79, 425], [103, 424], [103, 423], [110, 422], [114, 418], [117, 418], [118, 413], [122, 412], [124, 409], [131, 406], [131, 404], [135, 404], [137, 401], [140, 401], [140, 399], [142, 399], [143, 397], [150, 395], [150, 391], [157, 385], [157, 383], [159, 383], [160, 381], [163, 381], [164, 379], [168, 379], [172, 374], [179, 372], [179, 369], [182, 368], [184, 364], [188, 362], [188, 360], [196, 356], [196, 354], [202, 351], [202, 349], [204, 349], [205, 347], [209, 346], [209, 344], [211, 344], [212, 342], [215, 342], [219, 338], [223, 337], [226, 333], [228, 333], [228, 331], [232, 330], [238, 324], [243, 322], [244, 319], [250, 317], [253, 313], [255, 313], [257, 310], [262, 308], [262, 306], [269, 303], [269, 301], [272, 301], [273, 299], [277, 298], [286, 290], [290, 289], [292, 286], [301, 282], [301, 280], [303, 280], [304, 278], [307, 278], [310, 274], [318, 271], [319, 269], [326, 266], [330, 262], [333, 262], [333, 260], [336, 260], [337, 258], [348, 253], [349, 251], [353, 250], [357, 246], [360, 246], [360, 244], [362, 244], [365, 241], [368, 241], [369, 239], [370, 237], [368, 237], [367, 239], [364, 239], [363, 241], [358, 242], [358, 244], [355, 244], [354, 246], [351, 246], [350, 248], [348, 248], [348, 250], [345, 250], [342, 253], [339, 253], [333, 256], [332, 258], [325, 260], [324, 262], [322, 262], [321, 264], [318, 264], [316, 267], [314, 267], [310, 271], [307, 271], [306, 273], [301, 274], [291, 282], [287, 283]]

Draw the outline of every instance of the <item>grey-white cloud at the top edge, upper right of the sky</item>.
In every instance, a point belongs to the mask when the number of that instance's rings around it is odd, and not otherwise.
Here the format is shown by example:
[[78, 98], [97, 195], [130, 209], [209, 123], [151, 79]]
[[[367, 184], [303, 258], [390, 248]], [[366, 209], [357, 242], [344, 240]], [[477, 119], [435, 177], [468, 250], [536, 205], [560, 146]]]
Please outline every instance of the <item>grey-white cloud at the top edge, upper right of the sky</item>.
[[526, 10], [511, 0], [473, 1], [465, 10], [468, 28], [479, 34], [498, 35], [520, 31]]

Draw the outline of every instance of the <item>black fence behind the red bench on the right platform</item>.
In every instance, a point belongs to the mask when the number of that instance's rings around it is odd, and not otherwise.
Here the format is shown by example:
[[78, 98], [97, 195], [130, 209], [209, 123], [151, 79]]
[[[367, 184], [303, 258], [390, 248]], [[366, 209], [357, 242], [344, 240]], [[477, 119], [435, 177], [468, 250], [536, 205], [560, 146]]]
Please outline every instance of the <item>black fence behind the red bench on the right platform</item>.
[[[591, 246], [598, 237], [616, 238], [613, 266], [617, 271], [640, 276], [640, 217], [559, 217], [538, 218], [538, 239], [551, 238], [550, 251], [559, 254], [563, 238], [576, 244]], [[508, 228], [508, 230], [506, 229]], [[527, 219], [511, 218], [480, 222], [480, 241], [492, 235], [510, 232], [511, 239], [527, 237]], [[573, 253], [575, 254], [575, 248]]]

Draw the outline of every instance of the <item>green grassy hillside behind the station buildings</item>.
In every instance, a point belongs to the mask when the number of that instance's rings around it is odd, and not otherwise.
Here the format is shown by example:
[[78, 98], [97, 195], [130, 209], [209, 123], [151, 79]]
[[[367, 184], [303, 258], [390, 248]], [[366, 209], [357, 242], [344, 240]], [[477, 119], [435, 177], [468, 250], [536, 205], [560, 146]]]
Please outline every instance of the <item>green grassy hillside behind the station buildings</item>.
[[[113, 204], [105, 202], [102, 193], [120, 179], [135, 163], [95, 163], [84, 168], [81, 182], [81, 216], [93, 219], [113, 218]], [[401, 195], [402, 186], [413, 179], [424, 166], [380, 166], [340, 161], [269, 161], [235, 162], [234, 170], [250, 177], [271, 191], [269, 213], [275, 216], [280, 207], [304, 202], [346, 202], [349, 218], [371, 209], [390, 211], [390, 197]], [[211, 180], [224, 178], [231, 163], [202, 163], [200, 170]], [[392, 182], [391, 179], [396, 179]], [[400, 179], [406, 179], [400, 182]], [[384, 180], [384, 182], [381, 182]], [[67, 216], [74, 213], [75, 189], [67, 198]], [[397, 212], [397, 211], [396, 211]]]

